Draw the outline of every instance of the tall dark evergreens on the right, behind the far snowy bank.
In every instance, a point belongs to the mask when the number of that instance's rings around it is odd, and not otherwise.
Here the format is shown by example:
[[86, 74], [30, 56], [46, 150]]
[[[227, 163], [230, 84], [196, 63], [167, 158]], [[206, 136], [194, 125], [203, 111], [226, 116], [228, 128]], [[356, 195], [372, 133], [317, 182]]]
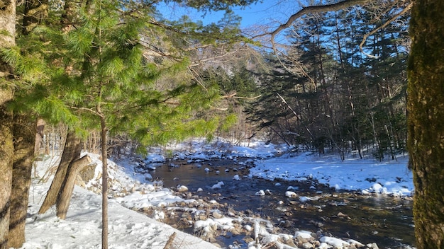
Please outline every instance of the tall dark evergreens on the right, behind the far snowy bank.
[[260, 81], [265, 94], [251, 120], [289, 144], [342, 158], [352, 150], [379, 159], [405, 151], [405, 20], [367, 37], [367, 57], [362, 37], [379, 25], [368, 24], [369, 13], [356, 7], [295, 22], [287, 58], [268, 55], [272, 71]]

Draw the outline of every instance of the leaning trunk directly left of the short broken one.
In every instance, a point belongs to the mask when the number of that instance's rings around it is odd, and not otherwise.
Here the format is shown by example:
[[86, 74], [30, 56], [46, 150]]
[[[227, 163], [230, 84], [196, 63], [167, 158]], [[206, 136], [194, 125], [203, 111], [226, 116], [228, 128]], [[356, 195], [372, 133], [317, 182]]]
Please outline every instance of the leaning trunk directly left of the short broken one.
[[81, 145], [80, 139], [74, 134], [74, 132], [68, 131], [65, 140], [65, 149], [63, 149], [60, 164], [55, 172], [54, 179], [52, 180], [50, 189], [46, 194], [42, 207], [40, 207], [40, 210], [38, 211], [39, 214], [45, 213], [57, 202], [57, 197], [62, 191], [62, 185], [67, 174], [68, 166], [72, 161], [80, 157], [80, 152], [82, 149]]

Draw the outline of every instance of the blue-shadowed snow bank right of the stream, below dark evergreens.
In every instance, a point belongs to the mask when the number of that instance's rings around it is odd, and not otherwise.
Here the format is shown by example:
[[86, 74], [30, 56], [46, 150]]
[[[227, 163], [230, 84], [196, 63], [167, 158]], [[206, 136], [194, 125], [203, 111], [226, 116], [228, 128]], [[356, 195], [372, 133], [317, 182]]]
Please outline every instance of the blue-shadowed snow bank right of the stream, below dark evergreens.
[[257, 161], [250, 175], [267, 179], [306, 180], [313, 178], [335, 190], [360, 190], [362, 194], [411, 196], [414, 190], [413, 175], [407, 168], [408, 156], [392, 161], [374, 159], [346, 159], [337, 156], [288, 154]]

